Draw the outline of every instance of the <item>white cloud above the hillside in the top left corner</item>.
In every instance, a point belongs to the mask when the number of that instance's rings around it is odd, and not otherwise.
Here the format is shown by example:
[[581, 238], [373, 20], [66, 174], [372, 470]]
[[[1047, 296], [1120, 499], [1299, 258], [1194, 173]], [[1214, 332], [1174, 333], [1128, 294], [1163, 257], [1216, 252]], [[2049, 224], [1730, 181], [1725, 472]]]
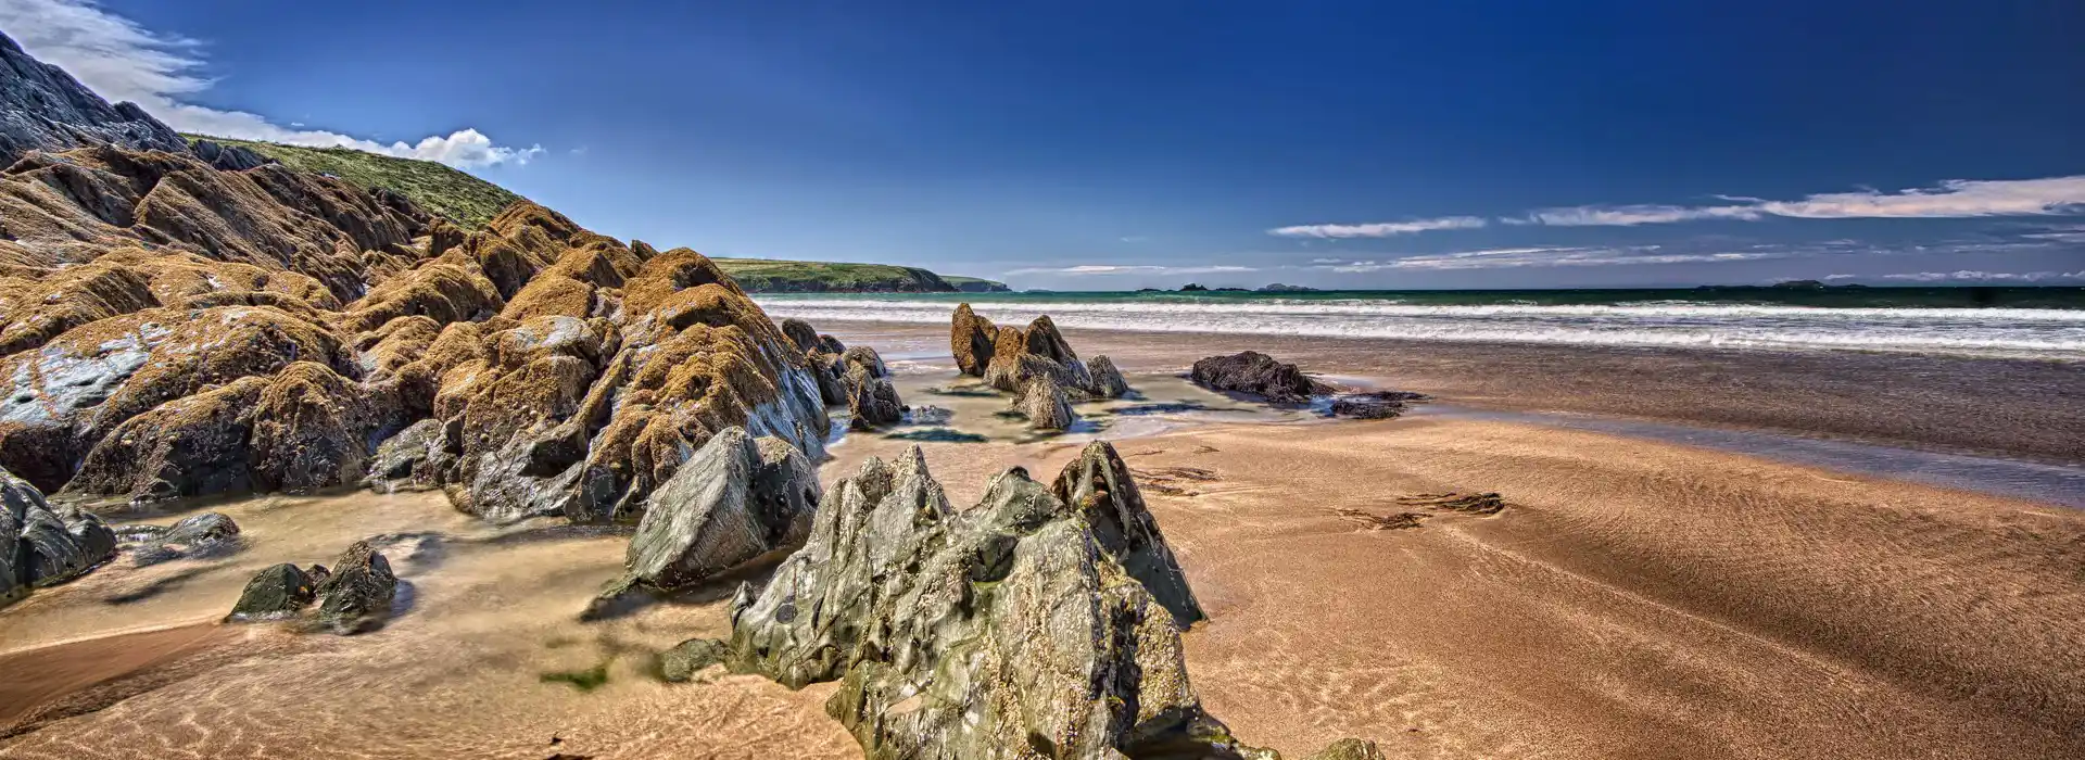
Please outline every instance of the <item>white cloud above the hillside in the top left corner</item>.
[[457, 129], [419, 142], [379, 144], [323, 129], [275, 125], [244, 110], [219, 110], [183, 98], [211, 87], [200, 75], [202, 44], [156, 33], [136, 21], [102, 10], [92, 0], [0, 0], [0, 29], [31, 56], [69, 71], [108, 100], [144, 106], [179, 131], [267, 140], [292, 146], [354, 148], [388, 156], [440, 160], [450, 167], [525, 164], [542, 146], [498, 146], [477, 129]]

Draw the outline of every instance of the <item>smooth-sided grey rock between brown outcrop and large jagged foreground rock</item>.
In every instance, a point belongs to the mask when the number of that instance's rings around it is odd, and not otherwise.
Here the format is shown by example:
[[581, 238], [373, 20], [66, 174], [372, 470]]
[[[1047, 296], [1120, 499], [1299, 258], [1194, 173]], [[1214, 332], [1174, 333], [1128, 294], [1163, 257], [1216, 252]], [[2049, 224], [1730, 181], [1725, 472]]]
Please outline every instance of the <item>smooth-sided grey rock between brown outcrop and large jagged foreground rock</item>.
[[630, 537], [630, 577], [671, 589], [792, 548], [811, 531], [817, 468], [778, 437], [732, 427], [653, 491]]

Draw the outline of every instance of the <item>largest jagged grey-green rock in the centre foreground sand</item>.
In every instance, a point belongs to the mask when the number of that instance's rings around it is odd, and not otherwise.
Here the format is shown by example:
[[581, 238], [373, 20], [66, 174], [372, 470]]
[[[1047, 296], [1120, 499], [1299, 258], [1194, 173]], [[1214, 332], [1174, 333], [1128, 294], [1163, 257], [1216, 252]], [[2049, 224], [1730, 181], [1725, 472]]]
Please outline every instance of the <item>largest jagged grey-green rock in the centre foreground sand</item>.
[[949, 508], [917, 448], [869, 460], [803, 550], [732, 602], [726, 664], [790, 687], [872, 758], [1238, 758], [1172, 614], [1022, 468]]

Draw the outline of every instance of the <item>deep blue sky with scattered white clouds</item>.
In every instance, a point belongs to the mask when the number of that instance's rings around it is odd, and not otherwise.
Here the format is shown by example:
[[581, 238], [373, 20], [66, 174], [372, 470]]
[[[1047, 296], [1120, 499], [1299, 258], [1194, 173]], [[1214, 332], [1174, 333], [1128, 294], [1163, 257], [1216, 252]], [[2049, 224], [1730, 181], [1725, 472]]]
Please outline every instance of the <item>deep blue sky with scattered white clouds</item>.
[[1015, 287], [2085, 283], [2085, 2], [0, 0], [175, 129]]

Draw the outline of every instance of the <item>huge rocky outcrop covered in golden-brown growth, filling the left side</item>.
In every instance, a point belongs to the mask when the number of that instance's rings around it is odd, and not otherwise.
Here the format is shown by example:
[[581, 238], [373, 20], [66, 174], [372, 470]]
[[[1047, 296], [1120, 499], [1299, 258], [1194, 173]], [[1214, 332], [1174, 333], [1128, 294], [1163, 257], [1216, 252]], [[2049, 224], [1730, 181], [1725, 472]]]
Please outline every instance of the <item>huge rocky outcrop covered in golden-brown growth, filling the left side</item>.
[[607, 521], [728, 427], [824, 454], [840, 377], [703, 254], [530, 202], [467, 233], [0, 56], [29, 135], [0, 171], [0, 466], [44, 491], [404, 481]]

